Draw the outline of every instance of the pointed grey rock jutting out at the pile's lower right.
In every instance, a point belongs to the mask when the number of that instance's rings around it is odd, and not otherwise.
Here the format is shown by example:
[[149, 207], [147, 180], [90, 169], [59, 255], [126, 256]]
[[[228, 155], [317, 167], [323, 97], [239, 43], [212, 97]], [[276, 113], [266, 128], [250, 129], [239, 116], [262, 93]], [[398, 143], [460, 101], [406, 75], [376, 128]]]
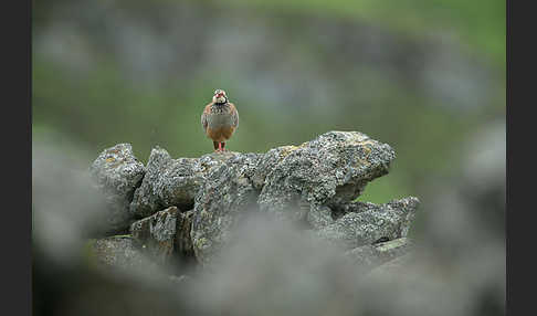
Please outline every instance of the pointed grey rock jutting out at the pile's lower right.
[[418, 204], [419, 200], [414, 197], [385, 204], [354, 202], [347, 209], [355, 211], [344, 214], [315, 233], [348, 249], [404, 238]]

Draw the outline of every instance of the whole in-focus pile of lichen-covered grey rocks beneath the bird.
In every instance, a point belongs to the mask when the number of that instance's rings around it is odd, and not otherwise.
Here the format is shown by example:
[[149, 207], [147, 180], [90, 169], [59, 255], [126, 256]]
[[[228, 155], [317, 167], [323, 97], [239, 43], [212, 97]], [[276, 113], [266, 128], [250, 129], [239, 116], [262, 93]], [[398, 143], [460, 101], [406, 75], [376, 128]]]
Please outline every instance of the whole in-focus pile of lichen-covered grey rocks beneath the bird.
[[[145, 167], [130, 145], [116, 145], [91, 171], [109, 197], [110, 221], [131, 224], [137, 243], [104, 239], [96, 243], [97, 253], [106, 262], [127, 264], [122, 255], [138, 246], [160, 262], [179, 253], [207, 265], [255, 213], [305, 224], [312, 236], [349, 250], [357, 264], [380, 265], [410, 249], [407, 234], [419, 200], [355, 200], [369, 181], [388, 173], [394, 158], [389, 145], [356, 131], [329, 131], [266, 154], [172, 159], [156, 147]], [[122, 255], [112, 260], [110, 251]]]

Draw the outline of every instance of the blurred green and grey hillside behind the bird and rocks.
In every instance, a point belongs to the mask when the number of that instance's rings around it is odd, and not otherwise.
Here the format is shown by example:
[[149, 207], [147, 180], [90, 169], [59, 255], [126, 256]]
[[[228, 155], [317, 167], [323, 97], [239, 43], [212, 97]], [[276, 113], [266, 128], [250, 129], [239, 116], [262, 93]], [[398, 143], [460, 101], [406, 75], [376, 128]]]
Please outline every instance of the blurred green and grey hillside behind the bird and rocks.
[[358, 130], [397, 152], [360, 200], [427, 209], [472, 155], [497, 160], [480, 135], [505, 133], [505, 1], [33, 1], [32, 33], [33, 141], [80, 168], [117, 143], [144, 162], [211, 152], [200, 114], [223, 88], [230, 150]]

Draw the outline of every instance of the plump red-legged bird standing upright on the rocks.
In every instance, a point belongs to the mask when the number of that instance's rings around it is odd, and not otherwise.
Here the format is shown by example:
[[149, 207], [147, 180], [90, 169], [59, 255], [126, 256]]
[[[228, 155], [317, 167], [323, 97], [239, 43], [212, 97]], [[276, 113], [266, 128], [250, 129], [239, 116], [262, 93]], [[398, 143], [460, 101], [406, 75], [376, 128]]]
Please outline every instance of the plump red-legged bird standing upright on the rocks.
[[239, 112], [235, 105], [229, 102], [225, 91], [214, 91], [212, 102], [206, 105], [201, 114], [201, 126], [207, 137], [212, 139], [214, 151], [225, 151], [225, 141], [239, 127]]

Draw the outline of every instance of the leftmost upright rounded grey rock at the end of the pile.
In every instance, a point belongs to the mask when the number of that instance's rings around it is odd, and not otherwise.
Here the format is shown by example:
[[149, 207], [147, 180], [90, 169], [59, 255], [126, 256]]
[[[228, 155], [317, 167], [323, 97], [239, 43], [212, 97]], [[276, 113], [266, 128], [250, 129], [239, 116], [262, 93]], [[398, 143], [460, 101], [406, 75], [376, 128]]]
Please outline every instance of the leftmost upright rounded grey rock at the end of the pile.
[[134, 221], [128, 212], [129, 203], [145, 175], [145, 167], [134, 156], [130, 144], [103, 150], [92, 164], [90, 173], [106, 199], [105, 230], [115, 233], [128, 229]]

